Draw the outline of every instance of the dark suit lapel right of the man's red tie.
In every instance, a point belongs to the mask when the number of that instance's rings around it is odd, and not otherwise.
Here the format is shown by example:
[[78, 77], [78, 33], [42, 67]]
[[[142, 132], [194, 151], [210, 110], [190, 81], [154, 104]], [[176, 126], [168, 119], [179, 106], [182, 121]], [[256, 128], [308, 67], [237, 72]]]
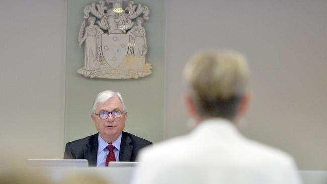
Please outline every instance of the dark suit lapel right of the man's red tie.
[[133, 145], [131, 145], [131, 138], [122, 132], [122, 140], [120, 143], [119, 161], [131, 161]]

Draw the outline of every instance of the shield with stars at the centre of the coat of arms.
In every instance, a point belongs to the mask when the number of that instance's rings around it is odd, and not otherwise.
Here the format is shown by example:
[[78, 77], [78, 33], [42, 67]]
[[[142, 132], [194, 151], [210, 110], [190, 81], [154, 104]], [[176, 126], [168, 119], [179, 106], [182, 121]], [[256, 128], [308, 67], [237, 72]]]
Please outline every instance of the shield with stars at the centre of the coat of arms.
[[126, 34], [102, 34], [101, 51], [104, 60], [113, 69], [119, 67], [128, 53], [129, 36]]

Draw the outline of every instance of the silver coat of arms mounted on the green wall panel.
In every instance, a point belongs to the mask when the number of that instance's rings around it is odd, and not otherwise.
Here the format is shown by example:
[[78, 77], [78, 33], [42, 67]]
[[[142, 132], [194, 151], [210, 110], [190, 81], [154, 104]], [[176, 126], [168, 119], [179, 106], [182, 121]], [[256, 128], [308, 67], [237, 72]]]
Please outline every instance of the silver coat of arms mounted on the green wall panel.
[[84, 65], [78, 73], [90, 78], [139, 78], [151, 74], [144, 21], [149, 9], [133, 1], [101, 0], [87, 5], [78, 33], [85, 45]]

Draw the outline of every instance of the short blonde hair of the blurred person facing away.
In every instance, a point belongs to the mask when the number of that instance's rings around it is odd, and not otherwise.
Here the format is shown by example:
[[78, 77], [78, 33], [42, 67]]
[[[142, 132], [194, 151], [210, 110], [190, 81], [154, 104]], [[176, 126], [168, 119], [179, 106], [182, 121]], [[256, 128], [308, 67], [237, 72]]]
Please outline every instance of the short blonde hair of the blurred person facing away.
[[249, 80], [246, 58], [234, 51], [202, 51], [188, 61], [183, 74], [199, 113], [235, 117]]

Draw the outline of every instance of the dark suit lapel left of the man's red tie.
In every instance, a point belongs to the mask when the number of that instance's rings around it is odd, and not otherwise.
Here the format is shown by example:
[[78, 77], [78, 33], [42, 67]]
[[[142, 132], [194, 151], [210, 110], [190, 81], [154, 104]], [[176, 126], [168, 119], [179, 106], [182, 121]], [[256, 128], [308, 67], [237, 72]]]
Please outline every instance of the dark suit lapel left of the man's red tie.
[[87, 144], [87, 149], [84, 150], [84, 158], [89, 160], [89, 166], [97, 166], [98, 157], [98, 134], [90, 138], [90, 143]]

